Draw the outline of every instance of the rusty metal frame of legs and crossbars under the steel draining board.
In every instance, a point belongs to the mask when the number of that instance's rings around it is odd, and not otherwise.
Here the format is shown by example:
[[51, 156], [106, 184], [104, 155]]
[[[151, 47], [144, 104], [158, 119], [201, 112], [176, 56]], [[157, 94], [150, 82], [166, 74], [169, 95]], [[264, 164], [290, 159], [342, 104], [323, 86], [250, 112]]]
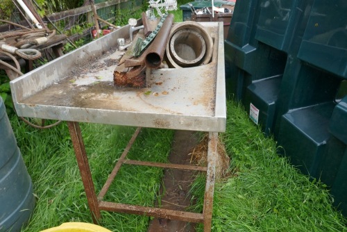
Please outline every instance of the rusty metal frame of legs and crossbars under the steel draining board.
[[[74, 145], [74, 151], [78, 168], [81, 172], [83, 185], [85, 188], [85, 194], [87, 196], [88, 205], [92, 213], [92, 219], [95, 224], [98, 224], [101, 218], [100, 210], [112, 211], [117, 213], [130, 213], [136, 215], [146, 215], [151, 217], [159, 217], [165, 219], [173, 219], [184, 222], [195, 222], [203, 223], [204, 231], [210, 232], [212, 226], [212, 207], [213, 207], [213, 194], [214, 194], [214, 175], [216, 172], [217, 163], [217, 140], [218, 133], [210, 132], [208, 140], [208, 166], [197, 167], [193, 165], [176, 165], [170, 163], [153, 163], [139, 160], [126, 160], [128, 151], [132, 147], [137, 135], [141, 131], [141, 127], [138, 127], [133, 134], [133, 137], [128, 142], [126, 149], [117, 161], [113, 168], [110, 176], [103, 185], [103, 188], [96, 197], [94, 183], [92, 181], [92, 173], [90, 171], [90, 165], [88, 163], [87, 154], [85, 152], [85, 145], [83, 143], [82, 133], [78, 122], [67, 122], [69, 132], [71, 135], [71, 141]], [[203, 213], [190, 213], [179, 210], [168, 210], [164, 208], [146, 207], [146, 206], [135, 206], [130, 204], [119, 204], [114, 202], [103, 201], [103, 197], [108, 192], [108, 188], [112, 181], [115, 179], [117, 172], [119, 171], [122, 164], [127, 165], [145, 165], [152, 167], [162, 168], [174, 168], [174, 169], [187, 169], [207, 172], [206, 174], [206, 186], [205, 186], [205, 199], [203, 204]]]

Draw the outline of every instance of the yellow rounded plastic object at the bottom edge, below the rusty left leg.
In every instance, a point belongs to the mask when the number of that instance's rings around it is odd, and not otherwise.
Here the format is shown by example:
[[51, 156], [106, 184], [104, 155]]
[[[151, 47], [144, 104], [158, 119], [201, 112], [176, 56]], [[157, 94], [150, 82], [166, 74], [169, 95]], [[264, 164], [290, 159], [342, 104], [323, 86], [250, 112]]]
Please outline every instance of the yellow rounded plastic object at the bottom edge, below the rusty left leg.
[[40, 232], [111, 232], [101, 226], [84, 222], [67, 222]]

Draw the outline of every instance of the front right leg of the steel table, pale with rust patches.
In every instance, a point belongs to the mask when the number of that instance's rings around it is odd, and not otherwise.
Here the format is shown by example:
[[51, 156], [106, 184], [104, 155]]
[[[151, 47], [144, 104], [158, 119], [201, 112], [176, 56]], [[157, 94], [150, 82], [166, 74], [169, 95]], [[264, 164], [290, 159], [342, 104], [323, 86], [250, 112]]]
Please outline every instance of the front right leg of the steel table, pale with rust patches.
[[205, 199], [203, 202], [203, 228], [210, 232], [212, 227], [212, 210], [214, 194], [214, 175], [216, 174], [218, 133], [210, 132], [208, 136], [208, 171], [206, 175]]

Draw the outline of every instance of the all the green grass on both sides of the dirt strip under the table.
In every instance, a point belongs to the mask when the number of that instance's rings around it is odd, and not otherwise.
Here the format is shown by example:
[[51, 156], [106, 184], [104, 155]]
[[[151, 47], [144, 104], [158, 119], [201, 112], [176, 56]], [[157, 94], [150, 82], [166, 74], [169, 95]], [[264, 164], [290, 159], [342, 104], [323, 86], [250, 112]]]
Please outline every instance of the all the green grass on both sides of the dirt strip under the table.
[[[92, 222], [66, 124], [38, 131], [11, 119], [33, 179], [37, 204], [23, 231], [40, 231], [63, 222]], [[133, 127], [81, 124], [96, 190], [126, 147]], [[166, 162], [173, 131], [143, 129], [129, 158]], [[226, 133], [232, 175], [217, 181], [212, 231], [347, 231], [346, 218], [331, 205], [325, 185], [278, 156], [276, 142], [248, 119], [242, 106], [228, 101]], [[105, 199], [151, 206], [158, 197], [162, 170], [124, 165]], [[202, 212], [204, 176], [192, 186], [192, 206]], [[112, 231], [146, 231], [149, 217], [102, 212]], [[202, 225], [198, 231], [202, 231]]]

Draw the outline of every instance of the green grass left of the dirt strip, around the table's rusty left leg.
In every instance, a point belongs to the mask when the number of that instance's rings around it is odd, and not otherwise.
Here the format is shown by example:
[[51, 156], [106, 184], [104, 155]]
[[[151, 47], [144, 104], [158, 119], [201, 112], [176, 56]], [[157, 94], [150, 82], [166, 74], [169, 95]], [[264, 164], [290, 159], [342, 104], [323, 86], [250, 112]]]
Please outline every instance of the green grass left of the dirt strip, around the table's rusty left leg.
[[[41, 231], [63, 222], [92, 222], [87, 199], [65, 123], [49, 130], [26, 126], [11, 118], [17, 143], [33, 180], [37, 202], [28, 226]], [[135, 129], [81, 124], [96, 192], [101, 190]], [[167, 162], [173, 131], [142, 129], [129, 158]], [[153, 206], [162, 169], [123, 165], [106, 200]], [[112, 231], [146, 231], [149, 217], [102, 212], [101, 225]]]

